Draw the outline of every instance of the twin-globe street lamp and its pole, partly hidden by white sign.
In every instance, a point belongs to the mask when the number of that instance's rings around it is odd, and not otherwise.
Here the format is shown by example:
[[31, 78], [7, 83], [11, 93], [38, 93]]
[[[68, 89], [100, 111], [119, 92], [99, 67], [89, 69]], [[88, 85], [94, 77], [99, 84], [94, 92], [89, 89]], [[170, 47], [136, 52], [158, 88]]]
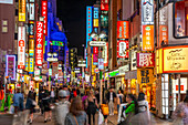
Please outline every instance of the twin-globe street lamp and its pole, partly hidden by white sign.
[[[95, 31], [92, 31], [91, 38], [92, 38], [92, 39], [95, 39], [96, 42], [97, 42], [97, 41], [101, 42], [102, 39], [106, 38], [106, 33], [105, 33], [104, 31], [102, 31], [102, 32], [100, 32], [100, 33], [96, 33]], [[100, 49], [98, 59], [102, 59], [101, 48], [102, 48], [102, 46], [98, 46], [98, 49]], [[103, 66], [104, 66], [104, 65], [103, 65]], [[102, 90], [102, 84], [103, 84], [102, 73], [103, 73], [102, 70], [100, 70], [100, 104], [102, 104], [102, 101], [103, 101], [103, 98], [102, 98], [102, 91], [103, 91], [103, 90]]]

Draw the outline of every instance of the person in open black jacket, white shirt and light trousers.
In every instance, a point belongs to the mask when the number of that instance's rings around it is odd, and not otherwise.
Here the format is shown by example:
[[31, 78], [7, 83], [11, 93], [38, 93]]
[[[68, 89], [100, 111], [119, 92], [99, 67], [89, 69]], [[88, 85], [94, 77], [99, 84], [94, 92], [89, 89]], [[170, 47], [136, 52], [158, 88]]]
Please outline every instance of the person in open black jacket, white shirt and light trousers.
[[109, 92], [106, 94], [106, 100], [108, 102], [109, 115], [114, 115], [114, 103], [116, 102], [116, 94], [114, 88], [111, 87]]

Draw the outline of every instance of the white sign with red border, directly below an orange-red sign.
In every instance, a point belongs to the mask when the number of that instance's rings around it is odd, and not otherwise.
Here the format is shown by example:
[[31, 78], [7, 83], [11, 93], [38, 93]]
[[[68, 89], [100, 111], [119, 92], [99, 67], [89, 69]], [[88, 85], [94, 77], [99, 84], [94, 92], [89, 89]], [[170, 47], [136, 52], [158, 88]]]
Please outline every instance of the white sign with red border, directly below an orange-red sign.
[[118, 40], [117, 41], [117, 58], [128, 58], [128, 41]]

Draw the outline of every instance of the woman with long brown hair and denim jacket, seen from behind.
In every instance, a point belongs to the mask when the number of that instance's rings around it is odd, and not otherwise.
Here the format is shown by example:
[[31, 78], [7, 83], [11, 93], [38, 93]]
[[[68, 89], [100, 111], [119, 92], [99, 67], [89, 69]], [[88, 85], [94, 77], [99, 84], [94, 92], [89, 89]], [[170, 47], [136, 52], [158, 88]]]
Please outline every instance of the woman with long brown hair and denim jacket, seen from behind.
[[73, 98], [64, 125], [87, 125], [86, 113], [82, 108], [82, 100], [80, 97]]

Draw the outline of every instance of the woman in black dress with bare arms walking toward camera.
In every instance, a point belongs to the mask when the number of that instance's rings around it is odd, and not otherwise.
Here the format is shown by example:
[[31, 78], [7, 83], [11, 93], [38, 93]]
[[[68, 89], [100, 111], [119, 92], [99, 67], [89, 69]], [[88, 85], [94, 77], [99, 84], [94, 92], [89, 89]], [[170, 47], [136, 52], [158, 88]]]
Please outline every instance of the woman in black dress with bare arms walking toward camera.
[[95, 125], [95, 114], [96, 114], [96, 110], [97, 110], [98, 105], [97, 105], [97, 100], [94, 96], [94, 92], [90, 91], [88, 97], [86, 100], [86, 112], [88, 115], [88, 125], [91, 125], [91, 119], [92, 119], [92, 115], [93, 115], [93, 125]]

